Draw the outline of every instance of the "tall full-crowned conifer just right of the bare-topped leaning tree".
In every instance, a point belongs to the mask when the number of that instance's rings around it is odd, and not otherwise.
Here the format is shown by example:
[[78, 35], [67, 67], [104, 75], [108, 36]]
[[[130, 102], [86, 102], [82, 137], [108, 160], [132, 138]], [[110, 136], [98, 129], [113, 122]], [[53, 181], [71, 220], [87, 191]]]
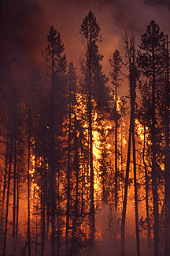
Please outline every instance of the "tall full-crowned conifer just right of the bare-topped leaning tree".
[[160, 110], [162, 90], [162, 75], [164, 73], [164, 33], [155, 21], [151, 21], [146, 28], [146, 33], [141, 37], [139, 44], [139, 67], [140, 71], [148, 81], [147, 97], [151, 107], [150, 128], [151, 150], [152, 150], [152, 192], [153, 192], [153, 216], [154, 216], [154, 256], [159, 255], [159, 201], [157, 191], [157, 137], [159, 133], [158, 118]]

